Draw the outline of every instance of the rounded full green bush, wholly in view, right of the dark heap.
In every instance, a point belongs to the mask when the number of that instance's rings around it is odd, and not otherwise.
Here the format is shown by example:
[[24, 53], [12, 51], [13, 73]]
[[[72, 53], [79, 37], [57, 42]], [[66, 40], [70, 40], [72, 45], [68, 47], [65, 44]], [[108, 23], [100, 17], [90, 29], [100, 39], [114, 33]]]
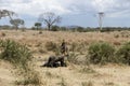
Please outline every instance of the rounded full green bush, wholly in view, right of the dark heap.
[[95, 43], [89, 47], [90, 62], [92, 63], [106, 63], [115, 61], [115, 48], [108, 43]]

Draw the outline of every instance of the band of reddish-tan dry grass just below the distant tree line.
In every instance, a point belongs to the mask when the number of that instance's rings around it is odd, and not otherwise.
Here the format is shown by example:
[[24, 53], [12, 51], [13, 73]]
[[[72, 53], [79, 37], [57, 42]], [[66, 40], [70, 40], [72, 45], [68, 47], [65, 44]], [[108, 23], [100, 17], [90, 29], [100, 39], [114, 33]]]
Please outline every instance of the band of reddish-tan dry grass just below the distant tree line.
[[[91, 44], [92, 42], [98, 41], [107, 41], [109, 43], [114, 42], [125, 42], [130, 41], [129, 37], [122, 37], [121, 34], [130, 34], [130, 32], [49, 32], [43, 31], [42, 34], [39, 34], [38, 31], [28, 30], [25, 32], [22, 31], [15, 31], [15, 30], [2, 30], [2, 33], [5, 33], [6, 35], [4, 39], [13, 39], [16, 41], [21, 41], [23, 43], [32, 43], [32, 45], [36, 45], [38, 43], [47, 43], [47, 42], [54, 42], [60, 43], [63, 39], [66, 40], [68, 44], [70, 43], [88, 43]], [[119, 38], [116, 38], [115, 35], [119, 35]]]

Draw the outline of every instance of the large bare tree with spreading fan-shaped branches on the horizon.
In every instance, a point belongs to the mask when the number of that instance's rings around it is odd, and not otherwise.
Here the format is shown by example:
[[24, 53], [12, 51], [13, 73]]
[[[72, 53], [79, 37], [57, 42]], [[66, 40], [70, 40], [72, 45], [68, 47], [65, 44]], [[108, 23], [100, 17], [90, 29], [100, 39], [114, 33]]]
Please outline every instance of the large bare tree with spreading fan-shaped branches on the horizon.
[[39, 16], [39, 20], [43, 22], [47, 25], [48, 29], [51, 30], [51, 28], [54, 24], [61, 23], [61, 17], [56, 16], [52, 12], [47, 12], [47, 13], [42, 13]]

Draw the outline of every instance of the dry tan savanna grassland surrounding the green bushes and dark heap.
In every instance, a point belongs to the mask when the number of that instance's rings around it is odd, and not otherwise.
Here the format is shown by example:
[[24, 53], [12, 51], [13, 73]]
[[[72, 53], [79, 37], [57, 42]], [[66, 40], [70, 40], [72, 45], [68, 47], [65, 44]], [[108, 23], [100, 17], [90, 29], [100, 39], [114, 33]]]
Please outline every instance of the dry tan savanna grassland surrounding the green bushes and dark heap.
[[[87, 61], [89, 57], [88, 49], [91, 44], [107, 42], [113, 45], [115, 49], [118, 49], [125, 43], [130, 42], [129, 31], [39, 32], [35, 30], [0, 30], [0, 39], [3, 41], [9, 39], [22, 45], [26, 45], [32, 55], [30, 61], [32, 64], [28, 62], [27, 66], [29, 71], [34, 71], [26, 72], [36, 75], [32, 77], [38, 76], [34, 78], [35, 81], [29, 82], [29, 84], [26, 82], [26, 85], [23, 85], [21, 82], [23, 77], [21, 77], [21, 74], [16, 74], [16, 72], [21, 70], [17, 70], [15, 64], [1, 59], [0, 86], [130, 86], [129, 64], [116, 62], [93, 64]], [[48, 60], [49, 56], [60, 55], [58, 48], [63, 40], [66, 41], [69, 55], [72, 56], [72, 59], [67, 61], [67, 67], [40, 67]], [[31, 76], [29, 78], [31, 78]]]

